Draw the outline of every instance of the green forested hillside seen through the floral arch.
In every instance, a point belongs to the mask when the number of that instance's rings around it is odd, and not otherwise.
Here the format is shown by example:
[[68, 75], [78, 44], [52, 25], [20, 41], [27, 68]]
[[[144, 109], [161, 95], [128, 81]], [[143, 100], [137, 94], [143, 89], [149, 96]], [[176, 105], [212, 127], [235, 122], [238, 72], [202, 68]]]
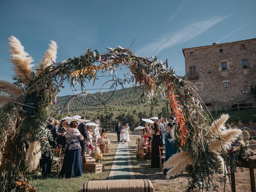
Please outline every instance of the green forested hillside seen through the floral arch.
[[[94, 96], [91, 94], [84, 96], [83, 94], [76, 96], [71, 101], [70, 98], [73, 95], [62, 96], [58, 97], [57, 103], [52, 106], [52, 115], [57, 119], [61, 119], [65, 116], [78, 114], [86, 116], [86, 119], [89, 120], [99, 119], [102, 124], [116, 125], [119, 120], [122, 124], [127, 122], [134, 127], [141, 124], [141, 118], [162, 115], [162, 107], [167, 102], [165, 98], [159, 95], [158, 102], [152, 109], [151, 114], [150, 104], [142, 100], [141, 95], [140, 88], [124, 88], [123, 90], [115, 90], [114, 93], [113, 91], [104, 92], [102, 95], [100, 92], [95, 93]], [[120, 100], [120, 98], [122, 99]], [[108, 102], [104, 102], [106, 100]], [[120, 101], [114, 103], [118, 100]], [[62, 114], [58, 114], [59, 109], [62, 107], [64, 107]]]

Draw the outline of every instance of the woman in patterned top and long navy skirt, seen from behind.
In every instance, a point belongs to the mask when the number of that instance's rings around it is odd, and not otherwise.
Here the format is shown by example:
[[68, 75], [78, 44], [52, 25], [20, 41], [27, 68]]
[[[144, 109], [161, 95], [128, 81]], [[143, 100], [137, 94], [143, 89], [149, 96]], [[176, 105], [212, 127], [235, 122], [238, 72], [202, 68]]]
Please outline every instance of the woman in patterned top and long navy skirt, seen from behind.
[[66, 131], [66, 150], [60, 175], [66, 178], [82, 176], [82, 156], [79, 140], [84, 137], [76, 128], [77, 122], [70, 122], [70, 128]]

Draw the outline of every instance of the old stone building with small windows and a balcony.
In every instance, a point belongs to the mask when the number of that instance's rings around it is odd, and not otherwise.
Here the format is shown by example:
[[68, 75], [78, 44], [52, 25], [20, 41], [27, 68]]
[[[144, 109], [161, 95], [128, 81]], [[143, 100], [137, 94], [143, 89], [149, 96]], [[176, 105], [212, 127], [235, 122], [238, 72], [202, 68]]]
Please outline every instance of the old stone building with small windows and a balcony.
[[[182, 49], [186, 80], [206, 106], [248, 101], [256, 86], [256, 38]], [[247, 90], [247, 93], [243, 93]]]

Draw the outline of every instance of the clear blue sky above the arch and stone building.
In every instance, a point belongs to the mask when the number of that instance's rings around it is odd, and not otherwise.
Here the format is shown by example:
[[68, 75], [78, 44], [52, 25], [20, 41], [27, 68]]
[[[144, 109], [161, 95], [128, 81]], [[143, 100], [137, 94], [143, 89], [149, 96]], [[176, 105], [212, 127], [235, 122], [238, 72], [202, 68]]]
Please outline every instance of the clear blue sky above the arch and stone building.
[[[0, 0], [0, 79], [12, 80], [7, 39], [11, 35], [21, 41], [34, 64], [50, 40], [58, 44], [60, 62], [87, 48], [100, 53], [118, 45], [129, 48], [136, 39], [133, 52], [168, 58], [176, 74], [184, 75], [182, 48], [256, 38], [255, 10], [256, 0]], [[95, 87], [101, 85], [99, 81]], [[67, 86], [59, 95], [66, 94]]]

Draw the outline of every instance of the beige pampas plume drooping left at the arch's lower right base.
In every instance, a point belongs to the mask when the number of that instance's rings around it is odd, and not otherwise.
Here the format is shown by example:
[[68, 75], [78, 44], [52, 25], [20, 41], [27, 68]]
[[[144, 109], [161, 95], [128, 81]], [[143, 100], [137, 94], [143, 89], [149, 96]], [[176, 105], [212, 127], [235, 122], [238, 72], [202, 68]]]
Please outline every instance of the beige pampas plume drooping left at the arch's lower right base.
[[166, 178], [170, 178], [171, 175], [176, 176], [180, 174], [188, 165], [192, 165], [192, 158], [188, 151], [174, 154], [164, 162], [164, 169], [170, 168], [167, 172]]

